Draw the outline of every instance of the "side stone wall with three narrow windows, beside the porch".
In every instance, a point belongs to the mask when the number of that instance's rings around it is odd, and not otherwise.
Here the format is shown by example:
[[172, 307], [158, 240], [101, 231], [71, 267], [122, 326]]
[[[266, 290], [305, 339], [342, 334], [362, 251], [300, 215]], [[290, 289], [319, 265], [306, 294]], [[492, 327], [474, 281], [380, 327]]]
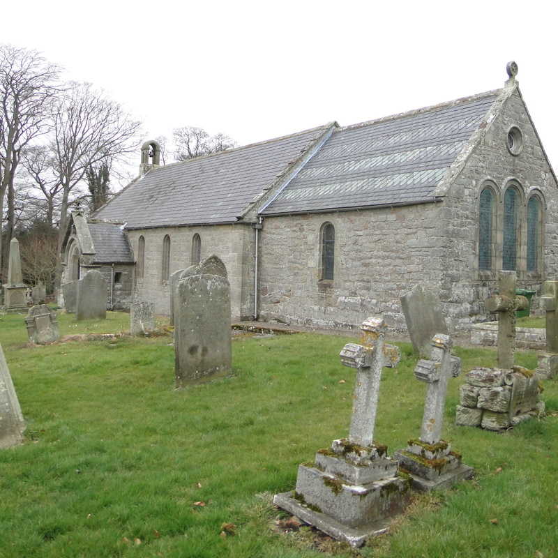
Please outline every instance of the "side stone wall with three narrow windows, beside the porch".
[[231, 285], [232, 319], [251, 315], [253, 304], [253, 230], [247, 225], [213, 225], [163, 227], [128, 231], [130, 245], [137, 260], [137, 243], [145, 239], [144, 277], [136, 277], [137, 295], [153, 302], [156, 314], [169, 313], [169, 285], [161, 280], [163, 239], [170, 236], [170, 273], [192, 264], [192, 239], [199, 234], [202, 259], [216, 254], [227, 267]]

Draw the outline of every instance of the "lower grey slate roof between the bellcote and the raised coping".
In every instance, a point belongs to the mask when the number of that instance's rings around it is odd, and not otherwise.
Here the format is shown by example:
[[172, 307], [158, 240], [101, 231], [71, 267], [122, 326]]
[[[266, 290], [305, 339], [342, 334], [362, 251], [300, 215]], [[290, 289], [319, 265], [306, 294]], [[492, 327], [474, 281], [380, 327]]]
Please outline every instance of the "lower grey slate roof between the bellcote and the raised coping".
[[126, 229], [236, 223], [331, 125], [151, 169], [96, 212]]

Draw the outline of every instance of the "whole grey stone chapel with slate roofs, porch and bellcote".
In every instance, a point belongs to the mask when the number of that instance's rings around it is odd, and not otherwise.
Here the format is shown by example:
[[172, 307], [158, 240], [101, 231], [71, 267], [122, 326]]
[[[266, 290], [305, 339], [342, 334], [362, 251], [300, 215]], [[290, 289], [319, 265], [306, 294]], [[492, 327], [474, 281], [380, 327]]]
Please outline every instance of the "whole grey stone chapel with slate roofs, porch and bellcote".
[[558, 276], [557, 179], [507, 72], [495, 91], [183, 163], [160, 166], [146, 142], [140, 175], [91, 219], [74, 214], [64, 280], [102, 265], [121, 306], [135, 292], [167, 314], [169, 275], [216, 254], [234, 320], [382, 314], [405, 329], [400, 296], [421, 284], [451, 329], [483, 321], [498, 270], [534, 290]]

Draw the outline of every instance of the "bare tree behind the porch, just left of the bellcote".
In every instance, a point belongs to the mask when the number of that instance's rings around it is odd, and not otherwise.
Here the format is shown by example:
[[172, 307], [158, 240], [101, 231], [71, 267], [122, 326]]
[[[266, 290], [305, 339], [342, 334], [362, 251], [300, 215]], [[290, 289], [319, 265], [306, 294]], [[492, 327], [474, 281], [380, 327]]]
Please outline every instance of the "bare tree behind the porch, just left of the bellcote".
[[[140, 123], [91, 84], [73, 83], [56, 106], [53, 128], [54, 169], [62, 192], [58, 237], [61, 250], [70, 193], [85, 179], [90, 167], [107, 157], [114, 160], [137, 149]], [[61, 266], [56, 272], [56, 285], [60, 279]]]

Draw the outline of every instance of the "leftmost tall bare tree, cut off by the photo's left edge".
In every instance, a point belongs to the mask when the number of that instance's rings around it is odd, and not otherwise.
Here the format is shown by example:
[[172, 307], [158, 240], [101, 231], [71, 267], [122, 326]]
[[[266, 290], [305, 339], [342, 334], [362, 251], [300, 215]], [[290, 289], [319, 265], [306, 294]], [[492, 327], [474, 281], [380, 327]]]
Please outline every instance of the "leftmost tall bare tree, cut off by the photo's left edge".
[[[6, 193], [8, 198], [4, 250], [15, 227], [14, 179], [21, 151], [49, 128], [50, 104], [59, 93], [59, 71], [36, 51], [0, 45], [0, 216]], [[6, 257], [2, 262], [0, 250], [0, 270], [5, 267]]]

